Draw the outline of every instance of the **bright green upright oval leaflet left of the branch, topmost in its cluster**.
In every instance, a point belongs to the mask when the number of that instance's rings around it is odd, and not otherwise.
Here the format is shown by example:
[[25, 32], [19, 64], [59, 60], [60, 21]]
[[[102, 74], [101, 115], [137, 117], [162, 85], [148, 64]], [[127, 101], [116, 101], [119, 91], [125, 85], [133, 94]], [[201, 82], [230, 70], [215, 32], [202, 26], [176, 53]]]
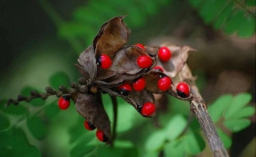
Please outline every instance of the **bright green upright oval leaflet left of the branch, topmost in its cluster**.
[[176, 139], [185, 129], [187, 120], [182, 115], [176, 115], [166, 124], [166, 136], [170, 141]]

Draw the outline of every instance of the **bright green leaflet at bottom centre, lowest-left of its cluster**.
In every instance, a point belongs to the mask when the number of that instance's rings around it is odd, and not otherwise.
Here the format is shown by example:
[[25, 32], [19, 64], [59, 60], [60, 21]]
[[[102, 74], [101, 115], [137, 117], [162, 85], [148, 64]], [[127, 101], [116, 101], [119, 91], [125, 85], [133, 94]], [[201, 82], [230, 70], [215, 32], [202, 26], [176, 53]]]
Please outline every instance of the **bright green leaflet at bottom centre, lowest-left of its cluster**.
[[163, 129], [153, 132], [145, 142], [146, 151], [158, 151], [163, 146], [166, 138], [166, 132]]

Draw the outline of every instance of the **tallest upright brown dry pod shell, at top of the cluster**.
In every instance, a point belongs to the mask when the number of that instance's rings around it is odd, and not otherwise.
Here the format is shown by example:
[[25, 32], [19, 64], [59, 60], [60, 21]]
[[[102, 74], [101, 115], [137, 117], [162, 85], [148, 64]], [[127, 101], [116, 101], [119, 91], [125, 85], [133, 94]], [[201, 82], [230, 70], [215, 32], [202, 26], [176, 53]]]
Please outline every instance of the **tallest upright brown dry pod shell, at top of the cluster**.
[[129, 29], [123, 22], [126, 16], [117, 16], [105, 22], [93, 40], [93, 48], [96, 58], [100, 54], [108, 55], [110, 58], [128, 41]]

